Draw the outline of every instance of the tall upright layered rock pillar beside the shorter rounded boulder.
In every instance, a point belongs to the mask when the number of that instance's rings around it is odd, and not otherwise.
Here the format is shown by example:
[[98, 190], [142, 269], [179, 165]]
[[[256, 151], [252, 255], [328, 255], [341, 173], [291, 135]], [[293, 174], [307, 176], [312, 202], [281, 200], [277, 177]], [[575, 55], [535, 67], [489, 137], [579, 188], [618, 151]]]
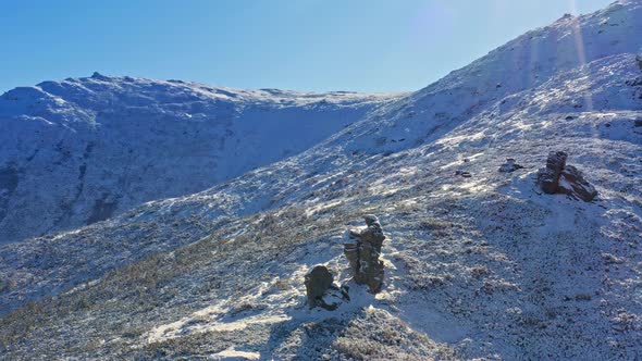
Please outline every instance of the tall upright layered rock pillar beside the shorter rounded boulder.
[[383, 284], [383, 261], [379, 260], [379, 256], [385, 235], [376, 216], [366, 215], [363, 219], [366, 228], [349, 231], [349, 242], [344, 245], [344, 253], [355, 282], [368, 285], [369, 291], [374, 294]]

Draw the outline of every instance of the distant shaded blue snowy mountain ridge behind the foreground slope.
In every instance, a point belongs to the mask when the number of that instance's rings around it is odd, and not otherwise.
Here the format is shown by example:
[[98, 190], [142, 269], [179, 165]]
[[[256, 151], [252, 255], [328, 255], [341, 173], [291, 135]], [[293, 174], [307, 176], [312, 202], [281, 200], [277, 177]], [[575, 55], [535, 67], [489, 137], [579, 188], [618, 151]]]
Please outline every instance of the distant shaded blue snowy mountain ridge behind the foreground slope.
[[207, 189], [397, 95], [234, 90], [95, 74], [0, 97], [0, 244]]

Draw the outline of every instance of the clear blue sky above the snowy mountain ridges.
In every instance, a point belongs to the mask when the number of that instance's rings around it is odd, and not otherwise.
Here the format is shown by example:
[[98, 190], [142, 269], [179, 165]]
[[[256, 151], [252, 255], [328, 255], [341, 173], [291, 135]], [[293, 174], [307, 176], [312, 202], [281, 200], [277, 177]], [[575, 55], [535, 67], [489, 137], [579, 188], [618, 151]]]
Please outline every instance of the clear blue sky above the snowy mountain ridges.
[[610, 0], [0, 0], [0, 92], [98, 71], [235, 88], [416, 90]]

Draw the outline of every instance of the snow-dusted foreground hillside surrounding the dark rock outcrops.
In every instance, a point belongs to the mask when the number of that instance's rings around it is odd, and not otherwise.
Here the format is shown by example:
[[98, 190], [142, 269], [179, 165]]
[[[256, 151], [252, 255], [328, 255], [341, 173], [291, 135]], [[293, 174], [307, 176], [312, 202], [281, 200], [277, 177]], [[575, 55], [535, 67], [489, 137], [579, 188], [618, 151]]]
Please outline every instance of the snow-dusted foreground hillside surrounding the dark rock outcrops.
[[[298, 155], [0, 247], [0, 352], [642, 358], [641, 10], [565, 17]], [[558, 45], [578, 29], [584, 55], [567, 63]], [[517, 45], [553, 61], [515, 72]], [[539, 190], [555, 150], [596, 201]], [[506, 158], [524, 169], [498, 172]], [[388, 237], [382, 291], [350, 284], [338, 310], [308, 310], [304, 274], [325, 263], [347, 282], [343, 235], [367, 213]]]

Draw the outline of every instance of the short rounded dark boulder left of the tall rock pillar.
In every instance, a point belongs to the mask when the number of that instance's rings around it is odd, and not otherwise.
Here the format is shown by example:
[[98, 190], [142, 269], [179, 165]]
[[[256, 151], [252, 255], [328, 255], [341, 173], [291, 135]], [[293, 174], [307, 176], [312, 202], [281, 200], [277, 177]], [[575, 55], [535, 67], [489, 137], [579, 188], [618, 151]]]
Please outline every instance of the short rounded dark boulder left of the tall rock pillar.
[[334, 311], [345, 300], [349, 301], [347, 286], [338, 287], [334, 284], [334, 276], [330, 270], [320, 264], [306, 274], [306, 294], [310, 308], [320, 307]]

